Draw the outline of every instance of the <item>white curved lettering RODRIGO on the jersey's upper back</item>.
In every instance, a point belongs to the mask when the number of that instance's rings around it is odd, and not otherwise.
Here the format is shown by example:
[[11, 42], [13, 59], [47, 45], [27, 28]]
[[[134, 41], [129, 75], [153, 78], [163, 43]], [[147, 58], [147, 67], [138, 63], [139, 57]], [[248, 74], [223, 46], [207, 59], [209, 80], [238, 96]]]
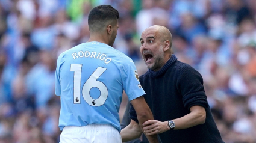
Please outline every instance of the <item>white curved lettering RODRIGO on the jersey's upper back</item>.
[[96, 58], [96, 59], [100, 59], [101, 61], [104, 61], [106, 64], [110, 63], [112, 61], [111, 58], [106, 58], [107, 55], [105, 54], [101, 54], [101, 53], [96, 53], [96, 52], [83, 52], [83, 51], [79, 51], [78, 53], [74, 52], [72, 53], [73, 59], [76, 58]]

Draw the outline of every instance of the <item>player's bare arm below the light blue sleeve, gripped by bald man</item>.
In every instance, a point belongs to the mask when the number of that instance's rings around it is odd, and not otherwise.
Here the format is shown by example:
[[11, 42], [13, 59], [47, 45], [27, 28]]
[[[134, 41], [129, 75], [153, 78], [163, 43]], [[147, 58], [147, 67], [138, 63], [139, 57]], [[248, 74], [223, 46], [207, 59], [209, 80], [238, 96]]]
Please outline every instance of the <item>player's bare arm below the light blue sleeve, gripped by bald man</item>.
[[[131, 100], [131, 104], [133, 105], [133, 108], [136, 111], [140, 129], [142, 129], [143, 128], [142, 123], [148, 120], [153, 120], [153, 114], [149, 109], [149, 106], [146, 103], [143, 96], [140, 96], [134, 100]], [[146, 138], [148, 138], [148, 141], [151, 143], [158, 142], [157, 135], [146, 135]]]

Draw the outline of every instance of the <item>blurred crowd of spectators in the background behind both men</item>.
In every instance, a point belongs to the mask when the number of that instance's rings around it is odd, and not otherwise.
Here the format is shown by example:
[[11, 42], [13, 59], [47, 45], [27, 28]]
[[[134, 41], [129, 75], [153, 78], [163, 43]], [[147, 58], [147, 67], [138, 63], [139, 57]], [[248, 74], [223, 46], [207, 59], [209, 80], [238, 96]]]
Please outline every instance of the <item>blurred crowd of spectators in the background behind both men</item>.
[[[147, 70], [140, 34], [163, 25], [173, 53], [201, 73], [226, 143], [256, 142], [254, 0], [0, 0], [0, 143], [59, 141], [54, 94], [61, 52], [89, 39], [87, 16], [102, 4], [119, 11], [114, 48]], [[127, 103], [123, 95], [120, 120]]]

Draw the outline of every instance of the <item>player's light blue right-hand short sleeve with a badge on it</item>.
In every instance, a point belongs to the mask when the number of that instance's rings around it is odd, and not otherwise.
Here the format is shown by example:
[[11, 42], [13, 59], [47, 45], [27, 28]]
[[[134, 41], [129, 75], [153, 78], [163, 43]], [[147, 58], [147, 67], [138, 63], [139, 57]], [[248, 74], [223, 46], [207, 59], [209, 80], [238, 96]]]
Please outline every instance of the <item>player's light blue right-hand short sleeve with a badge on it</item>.
[[140, 85], [139, 75], [137, 73], [134, 62], [126, 60], [121, 69], [122, 84], [129, 101], [143, 96], [145, 91]]

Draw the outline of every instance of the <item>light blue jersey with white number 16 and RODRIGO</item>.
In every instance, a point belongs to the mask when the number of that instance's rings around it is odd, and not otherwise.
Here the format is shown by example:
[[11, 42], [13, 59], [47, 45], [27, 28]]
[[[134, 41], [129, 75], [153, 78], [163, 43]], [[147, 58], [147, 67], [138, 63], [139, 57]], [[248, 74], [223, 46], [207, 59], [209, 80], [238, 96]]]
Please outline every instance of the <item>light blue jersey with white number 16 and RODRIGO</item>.
[[145, 94], [134, 62], [104, 43], [83, 43], [58, 57], [55, 94], [60, 96], [60, 130], [65, 126], [112, 124], [120, 132], [122, 93]]

